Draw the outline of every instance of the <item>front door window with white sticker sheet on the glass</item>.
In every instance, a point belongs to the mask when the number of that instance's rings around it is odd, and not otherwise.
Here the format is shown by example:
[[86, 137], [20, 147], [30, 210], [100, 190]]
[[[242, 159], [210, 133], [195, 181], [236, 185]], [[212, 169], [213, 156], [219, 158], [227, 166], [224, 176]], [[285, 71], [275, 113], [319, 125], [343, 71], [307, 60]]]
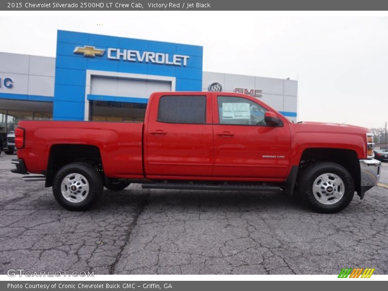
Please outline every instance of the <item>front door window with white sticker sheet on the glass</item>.
[[219, 96], [217, 101], [220, 124], [266, 125], [264, 113], [267, 110], [249, 99]]

